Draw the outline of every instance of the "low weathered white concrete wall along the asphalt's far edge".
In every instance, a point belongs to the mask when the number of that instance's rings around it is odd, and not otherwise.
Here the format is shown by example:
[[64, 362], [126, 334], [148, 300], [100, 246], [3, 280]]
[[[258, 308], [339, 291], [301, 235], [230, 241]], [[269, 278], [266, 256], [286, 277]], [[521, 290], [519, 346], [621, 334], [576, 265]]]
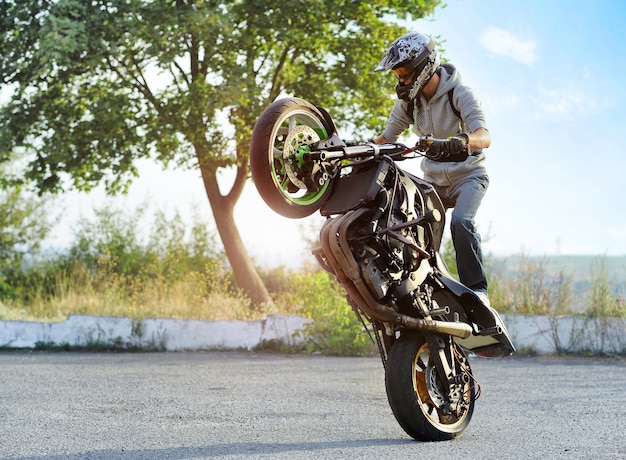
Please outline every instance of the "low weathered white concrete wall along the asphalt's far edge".
[[[523, 353], [626, 354], [626, 320], [503, 315]], [[1, 348], [116, 347], [164, 351], [253, 349], [264, 341], [292, 344], [307, 320], [270, 315], [262, 321], [201, 321], [70, 316], [60, 323], [0, 321]]]

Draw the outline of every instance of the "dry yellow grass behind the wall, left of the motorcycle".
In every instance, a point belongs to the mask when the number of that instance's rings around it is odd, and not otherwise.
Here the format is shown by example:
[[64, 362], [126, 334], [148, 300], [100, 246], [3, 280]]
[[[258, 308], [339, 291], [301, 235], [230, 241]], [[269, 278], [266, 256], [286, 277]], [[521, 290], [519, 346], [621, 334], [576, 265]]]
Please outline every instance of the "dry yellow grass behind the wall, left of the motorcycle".
[[294, 313], [291, 299], [250, 308], [249, 299], [224, 281], [224, 273], [189, 272], [175, 280], [164, 276], [129, 278], [111, 273], [89, 275], [76, 268], [55, 280], [55, 295], [30, 292], [27, 303], [0, 303], [0, 319], [63, 321], [72, 314], [140, 318], [257, 320], [268, 314]]

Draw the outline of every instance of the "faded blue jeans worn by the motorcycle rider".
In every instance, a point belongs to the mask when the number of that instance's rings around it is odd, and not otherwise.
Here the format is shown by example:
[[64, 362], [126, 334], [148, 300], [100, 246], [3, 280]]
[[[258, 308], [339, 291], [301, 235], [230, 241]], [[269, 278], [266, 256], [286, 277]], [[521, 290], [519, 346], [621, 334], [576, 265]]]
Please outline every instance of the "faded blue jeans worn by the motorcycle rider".
[[480, 234], [474, 217], [489, 187], [489, 177], [467, 179], [448, 187], [435, 185], [446, 209], [452, 210], [450, 233], [456, 251], [456, 265], [461, 283], [475, 291], [487, 292]]

